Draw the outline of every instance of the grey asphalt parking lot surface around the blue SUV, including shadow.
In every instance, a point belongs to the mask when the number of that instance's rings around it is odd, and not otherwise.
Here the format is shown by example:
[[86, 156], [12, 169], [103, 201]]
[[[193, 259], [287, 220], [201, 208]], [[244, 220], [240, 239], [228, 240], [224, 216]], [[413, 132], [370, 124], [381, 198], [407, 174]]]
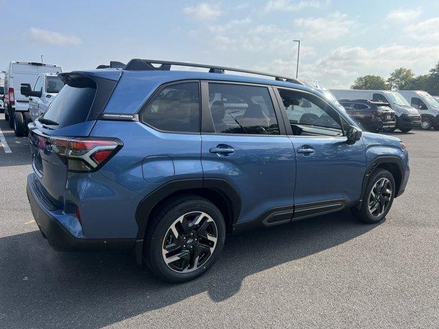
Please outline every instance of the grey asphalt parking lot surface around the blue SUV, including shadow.
[[439, 131], [394, 133], [412, 173], [383, 223], [234, 234], [205, 276], [171, 285], [130, 253], [54, 252], [27, 203], [27, 138], [3, 118], [0, 328], [438, 328]]

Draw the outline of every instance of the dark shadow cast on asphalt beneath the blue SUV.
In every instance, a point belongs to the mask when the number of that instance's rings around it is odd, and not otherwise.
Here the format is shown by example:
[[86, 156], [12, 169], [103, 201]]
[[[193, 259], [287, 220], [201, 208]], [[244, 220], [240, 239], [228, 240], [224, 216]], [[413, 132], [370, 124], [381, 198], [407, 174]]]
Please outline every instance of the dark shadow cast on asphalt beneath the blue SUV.
[[[339, 212], [232, 234], [204, 276], [167, 284], [126, 252], [54, 252], [40, 232], [0, 239], [1, 328], [101, 328], [200, 293], [221, 302], [254, 273], [341, 245], [377, 227]], [[3, 323], [3, 325], [2, 325]]]

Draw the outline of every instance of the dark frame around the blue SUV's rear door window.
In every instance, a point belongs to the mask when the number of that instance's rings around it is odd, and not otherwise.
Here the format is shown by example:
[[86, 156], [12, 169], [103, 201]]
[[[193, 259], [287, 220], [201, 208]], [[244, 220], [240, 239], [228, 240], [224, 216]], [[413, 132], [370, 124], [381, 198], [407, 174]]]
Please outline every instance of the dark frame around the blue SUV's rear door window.
[[[272, 101], [272, 106], [274, 109], [274, 115], [276, 116], [276, 121], [279, 127], [279, 134], [276, 135], [264, 135], [264, 134], [233, 134], [227, 132], [215, 132], [215, 126], [213, 125], [213, 118], [211, 110], [209, 108], [209, 84], [237, 84], [239, 86], [252, 86], [252, 87], [263, 87], [267, 88], [268, 95], [270, 95], [270, 100]], [[250, 82], [233, 82], [226, 80], [201, 80], [202, 89], [202, 134], [217, 135], [217, 136], [250, 136], [250, 137], [280, 137], [287, 136], [285, 130], [285, 122], [283, 122], [283, 116], [281, 114], [281, 109], [278, 108], [278, 103], [276, 101], [276, 95], [274, 94], [273, 86], [270, 84], [253, 84]]]

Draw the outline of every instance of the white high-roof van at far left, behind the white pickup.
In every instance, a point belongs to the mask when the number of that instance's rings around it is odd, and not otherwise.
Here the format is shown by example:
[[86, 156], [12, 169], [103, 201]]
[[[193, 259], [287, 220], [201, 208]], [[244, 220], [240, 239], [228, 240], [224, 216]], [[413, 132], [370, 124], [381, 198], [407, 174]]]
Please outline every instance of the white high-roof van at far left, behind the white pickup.
[[29, 99], [21, 95], [21, 84], [35, 85], [40, 73], [62, 73], [59, 65], [36, 62], [10, 62], [5, 73], [5, 120], [10, 127], [19, 127], [28, 121]]

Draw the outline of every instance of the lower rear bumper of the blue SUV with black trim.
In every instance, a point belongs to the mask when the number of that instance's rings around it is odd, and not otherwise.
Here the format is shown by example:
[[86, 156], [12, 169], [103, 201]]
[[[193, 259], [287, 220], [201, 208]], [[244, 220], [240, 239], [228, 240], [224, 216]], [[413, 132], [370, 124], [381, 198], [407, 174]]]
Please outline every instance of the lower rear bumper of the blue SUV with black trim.
[[53, 249], [58, 251], [80, 251], [132, 249], [134, 247], [135, 239], [86, 239], [84, 236], [74, 236], [75, 232], [70, 232], [60, 221], [60, 218], [62, 218], [68, 223], [73, 215], [65, 214], [62, 210], [56, 208], [54, 204], [51, 204], [36, 186], [35, 173], [27, 175], [26, 192], [36, 224]]

